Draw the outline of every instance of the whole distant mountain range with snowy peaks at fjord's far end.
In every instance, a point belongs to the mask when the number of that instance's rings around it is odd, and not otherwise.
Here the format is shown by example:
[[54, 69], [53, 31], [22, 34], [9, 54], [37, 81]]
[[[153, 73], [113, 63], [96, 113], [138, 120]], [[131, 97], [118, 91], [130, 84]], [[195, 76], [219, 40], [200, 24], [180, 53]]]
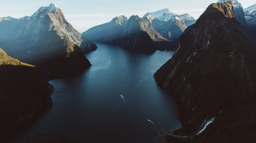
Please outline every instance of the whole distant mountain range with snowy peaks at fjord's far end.
[[123, 48], [144, 52], [174, 50], [177, 45], [174, 40], [182, 35], [187, 26], [195, 22], [196, 20], [188, 14], [177, 15], [163, 9], [148, 12], [143, 18], [115, 17], [109, 23], [92, 27], [82, 35], [93, 42], [119, 44]]

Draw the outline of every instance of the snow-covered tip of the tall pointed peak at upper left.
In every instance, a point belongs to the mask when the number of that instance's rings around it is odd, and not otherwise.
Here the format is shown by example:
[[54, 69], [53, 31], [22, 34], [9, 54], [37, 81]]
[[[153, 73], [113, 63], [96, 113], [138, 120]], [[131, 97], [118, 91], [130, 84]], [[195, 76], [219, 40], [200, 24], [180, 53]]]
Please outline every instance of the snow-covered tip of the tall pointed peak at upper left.
[[58, 10], [58, 6], [52, 3], [49, 7], [40, 7], [30, 18], [43, 17], [48, 13], [58, 12]]

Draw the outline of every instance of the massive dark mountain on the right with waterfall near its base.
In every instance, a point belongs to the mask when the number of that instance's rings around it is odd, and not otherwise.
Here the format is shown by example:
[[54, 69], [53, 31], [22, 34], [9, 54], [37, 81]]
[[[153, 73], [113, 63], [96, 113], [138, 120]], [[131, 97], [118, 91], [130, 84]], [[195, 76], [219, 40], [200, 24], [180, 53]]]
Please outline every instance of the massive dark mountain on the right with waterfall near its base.
[[154, 74], [176, 97], [182, 128], [173, 133], [190, 142], [256, 140], [256, 34], [233, 5], [211, 4]]

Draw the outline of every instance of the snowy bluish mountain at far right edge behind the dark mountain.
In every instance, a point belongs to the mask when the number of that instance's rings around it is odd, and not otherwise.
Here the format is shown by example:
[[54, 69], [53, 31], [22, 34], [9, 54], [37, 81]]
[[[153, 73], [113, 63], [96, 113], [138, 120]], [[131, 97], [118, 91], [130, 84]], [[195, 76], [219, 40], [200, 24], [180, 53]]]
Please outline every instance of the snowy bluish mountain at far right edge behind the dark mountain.
[[256, 4], [244, 9], [247, 24], [256, 29]]

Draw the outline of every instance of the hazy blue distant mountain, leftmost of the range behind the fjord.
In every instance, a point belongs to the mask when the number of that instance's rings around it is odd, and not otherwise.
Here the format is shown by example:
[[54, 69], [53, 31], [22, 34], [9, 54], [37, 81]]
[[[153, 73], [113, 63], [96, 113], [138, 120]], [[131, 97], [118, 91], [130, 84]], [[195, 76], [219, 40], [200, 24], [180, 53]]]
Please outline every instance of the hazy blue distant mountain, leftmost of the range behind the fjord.
[[94, 26], [82, 33], [82, 36], [89, 40], [98, 43], [118, 44], [120, 34], [128, 19], [125, 16], [118, 16], [113, 18], [110, 22], [98, 26]]

